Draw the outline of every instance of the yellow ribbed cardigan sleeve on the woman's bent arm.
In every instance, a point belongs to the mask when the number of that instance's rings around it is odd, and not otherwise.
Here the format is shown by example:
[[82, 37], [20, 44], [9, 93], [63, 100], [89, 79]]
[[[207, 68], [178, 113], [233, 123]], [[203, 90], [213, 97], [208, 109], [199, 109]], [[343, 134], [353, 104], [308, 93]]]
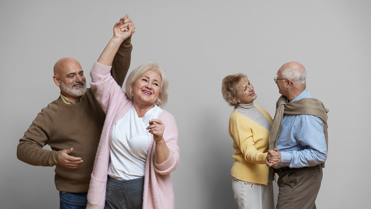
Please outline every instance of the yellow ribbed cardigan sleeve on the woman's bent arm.
[[259, 152], [256, 149], [250, 127], [236, 124], [232, 128], [231, 134], [247, 162], [265, 164], [267, 153]]

